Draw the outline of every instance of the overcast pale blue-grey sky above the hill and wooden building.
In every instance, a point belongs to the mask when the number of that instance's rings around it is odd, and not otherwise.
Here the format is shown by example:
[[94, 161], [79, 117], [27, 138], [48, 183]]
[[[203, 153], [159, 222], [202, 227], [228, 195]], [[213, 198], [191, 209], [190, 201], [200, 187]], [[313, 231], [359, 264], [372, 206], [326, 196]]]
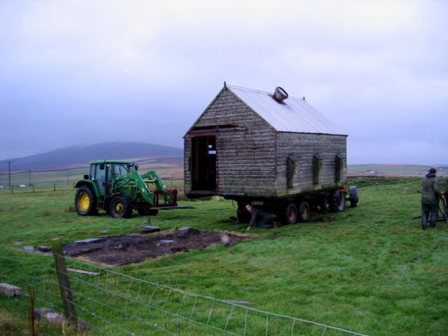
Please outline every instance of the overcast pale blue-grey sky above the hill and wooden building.
[[445, 0], [0, 0], [0, 160], [183, 147], [225, 81], [305, 96], [348, 164], [446, 164], [447, 18]]

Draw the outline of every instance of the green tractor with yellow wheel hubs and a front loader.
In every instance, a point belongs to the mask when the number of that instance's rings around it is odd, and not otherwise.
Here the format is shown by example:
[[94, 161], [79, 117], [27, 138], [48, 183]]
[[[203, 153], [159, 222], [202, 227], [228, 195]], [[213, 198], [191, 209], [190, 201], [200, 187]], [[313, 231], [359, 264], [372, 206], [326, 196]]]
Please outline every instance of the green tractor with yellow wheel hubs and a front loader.
[[75, 188], [74, 206], [79, 215], [97, 215], [99, 210], [114, 218], [157, 215], [161, 208], [177, 207], [177, 190], [167, 190], [156, 172], [140, 175], [134, 162], [98, 160], [90, 162], [90, 175], [84, 175]]

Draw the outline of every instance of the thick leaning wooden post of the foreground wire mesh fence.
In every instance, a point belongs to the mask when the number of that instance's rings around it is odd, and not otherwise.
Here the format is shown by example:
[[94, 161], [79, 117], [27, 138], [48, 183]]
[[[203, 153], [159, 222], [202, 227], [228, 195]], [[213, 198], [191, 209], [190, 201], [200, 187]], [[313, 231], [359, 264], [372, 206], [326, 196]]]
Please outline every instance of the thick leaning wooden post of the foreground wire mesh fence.
[[70, 280], [67, 274], [67, 265], [65, 264], [64, 251], [60, 239], [52, 241], [53, 257], [55, 258], [55, 267], [59, 289], [61, 291], [62, 302], [64, 303], [64, 315], [72, 325], [77, 327], [77, 313], [72, 299], [72, 290], [70, 289]]

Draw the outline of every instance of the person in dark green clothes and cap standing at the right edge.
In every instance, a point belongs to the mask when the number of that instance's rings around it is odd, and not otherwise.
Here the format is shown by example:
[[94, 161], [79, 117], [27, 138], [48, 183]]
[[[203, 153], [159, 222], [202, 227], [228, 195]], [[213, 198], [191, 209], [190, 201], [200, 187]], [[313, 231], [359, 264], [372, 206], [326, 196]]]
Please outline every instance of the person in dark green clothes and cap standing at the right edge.
[[428, 228], [428, 220], [430, 228], [435, 228], [437, 216], [439, 215], [439, 197], [442, 194], [439, 191], [439, 181], [435, 177], [436, 170], [430, 169], [426, 174], [422, 184], [422, 229]]

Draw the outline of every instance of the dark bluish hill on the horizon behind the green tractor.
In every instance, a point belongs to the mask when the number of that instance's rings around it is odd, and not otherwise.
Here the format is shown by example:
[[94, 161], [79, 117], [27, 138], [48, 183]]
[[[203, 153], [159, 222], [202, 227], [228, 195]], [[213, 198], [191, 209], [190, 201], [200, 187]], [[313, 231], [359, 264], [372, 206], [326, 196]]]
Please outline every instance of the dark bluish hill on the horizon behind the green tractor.
[[95, 159], [130, 159], [148, 157], [183, 157], [184, 149], [145, 142], [108, 142], [88, 146], [73, 146], [37, 155], [12, 159], [14, 172], [47, 169], [75, 169]]

